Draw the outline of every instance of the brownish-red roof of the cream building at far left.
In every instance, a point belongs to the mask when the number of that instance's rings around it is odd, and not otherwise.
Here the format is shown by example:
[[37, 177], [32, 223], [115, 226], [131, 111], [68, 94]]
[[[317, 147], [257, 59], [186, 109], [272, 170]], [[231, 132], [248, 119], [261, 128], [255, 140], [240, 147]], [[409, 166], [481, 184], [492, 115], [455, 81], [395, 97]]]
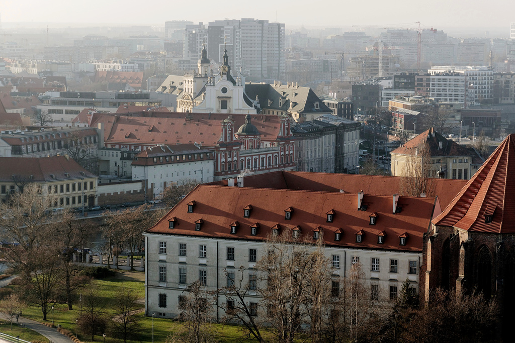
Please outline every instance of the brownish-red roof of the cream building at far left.
[[[80, 172], [83, 172], [82, 175]], [[66, 176], [69, 173], [70, 176]], [[55, 179], [51, 175], [55, 175]], [[12, 175], [19, 180], [49, 182], [62, 179], [90, 177], [94, 174], [82, 168], [76, 161], [65, 156], [50, 157], [0, 157], [0, 180], [11, 181]], [[30, 178], [32, 175], [32, 178]]]

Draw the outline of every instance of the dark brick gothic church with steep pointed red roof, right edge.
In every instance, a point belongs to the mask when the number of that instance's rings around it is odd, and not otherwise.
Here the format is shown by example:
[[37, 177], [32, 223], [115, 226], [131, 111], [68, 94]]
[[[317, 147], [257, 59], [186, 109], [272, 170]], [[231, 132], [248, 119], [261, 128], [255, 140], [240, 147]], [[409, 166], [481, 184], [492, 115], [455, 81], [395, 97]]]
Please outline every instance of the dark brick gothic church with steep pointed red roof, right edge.
[[432, 223], [424, 238], [421, 299], [427, 300], [436, 287], [451, 292], [475, 288], [486, 299], [495, 297], [506, 341], [515, 319], [515, 134], [506, 137]]

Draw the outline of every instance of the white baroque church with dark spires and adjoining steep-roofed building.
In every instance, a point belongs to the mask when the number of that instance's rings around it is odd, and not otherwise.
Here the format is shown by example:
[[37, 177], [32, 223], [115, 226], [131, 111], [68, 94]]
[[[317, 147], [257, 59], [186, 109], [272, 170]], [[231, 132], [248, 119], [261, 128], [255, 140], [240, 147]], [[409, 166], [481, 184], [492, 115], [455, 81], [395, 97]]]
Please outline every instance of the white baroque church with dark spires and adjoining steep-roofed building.
[[177, 96], [176, 112], [289, 115], [299, 122], [333, 113], [309, 87], [246, 83], [242, 73], [233, 73], [227, 49], [222, 65], [215, 68], [204, 46], [197, 70], [168, 76], [158, 90]]

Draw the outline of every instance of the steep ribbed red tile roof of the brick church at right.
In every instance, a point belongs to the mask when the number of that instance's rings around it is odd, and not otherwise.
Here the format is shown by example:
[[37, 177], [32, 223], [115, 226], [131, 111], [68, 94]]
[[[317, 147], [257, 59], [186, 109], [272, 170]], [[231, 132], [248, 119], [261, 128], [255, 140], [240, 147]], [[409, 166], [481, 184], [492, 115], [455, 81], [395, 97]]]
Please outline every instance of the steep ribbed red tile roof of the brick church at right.
[[[514, 170], [515, 134], [510, 134], [433, 224], [474, 232], [514, 233]], [[485, 214], [492, 212], [492, 222], [485, 223]]]

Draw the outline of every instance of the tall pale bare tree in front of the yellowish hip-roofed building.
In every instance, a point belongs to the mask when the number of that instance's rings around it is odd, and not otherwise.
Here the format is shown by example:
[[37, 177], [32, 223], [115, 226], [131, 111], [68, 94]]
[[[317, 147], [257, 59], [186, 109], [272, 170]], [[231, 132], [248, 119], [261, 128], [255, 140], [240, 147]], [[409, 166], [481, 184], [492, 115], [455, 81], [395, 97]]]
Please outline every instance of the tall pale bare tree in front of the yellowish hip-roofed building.
[[433, 196], [434, 185], [431, 173], [431, 152], [428, 146], [421, 143], [414, 155], [409, 155], [401, 178], [401, 192], [406, 196]]

